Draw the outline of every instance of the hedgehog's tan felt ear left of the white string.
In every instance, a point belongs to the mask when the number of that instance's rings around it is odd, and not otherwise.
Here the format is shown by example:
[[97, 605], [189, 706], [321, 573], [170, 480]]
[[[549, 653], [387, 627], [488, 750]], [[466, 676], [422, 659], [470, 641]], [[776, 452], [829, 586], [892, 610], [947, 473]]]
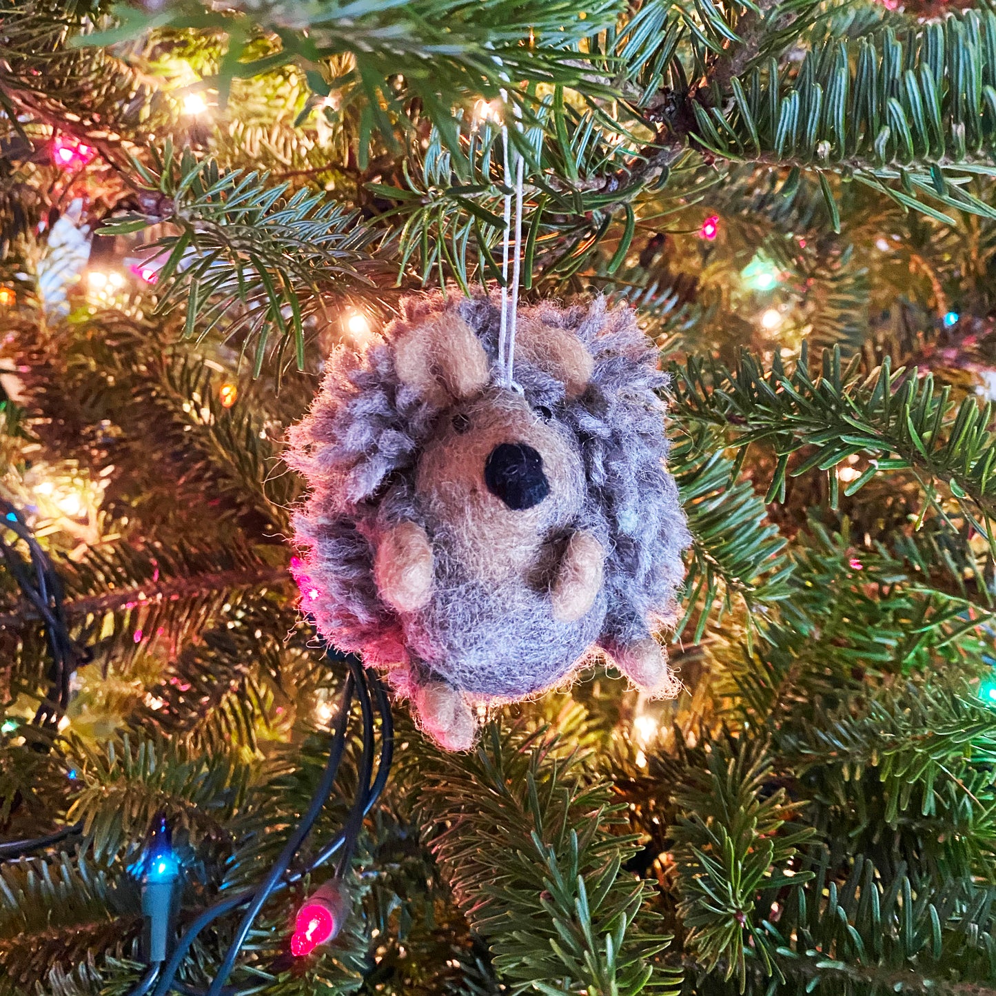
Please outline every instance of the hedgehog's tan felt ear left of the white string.
[[451, 310], [402, 331], [394, 340], [394, 369], [402, 383], [440, 408], [473, 397], [490, 378], [481, 341]]

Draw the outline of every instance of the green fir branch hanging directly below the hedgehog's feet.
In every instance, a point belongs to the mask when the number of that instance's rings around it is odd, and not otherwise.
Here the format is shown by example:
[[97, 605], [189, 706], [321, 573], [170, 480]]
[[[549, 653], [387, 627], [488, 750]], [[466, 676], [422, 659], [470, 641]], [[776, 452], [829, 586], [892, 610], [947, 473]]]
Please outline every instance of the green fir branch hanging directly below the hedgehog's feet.
[[634, 843], [579, 757], [492, 725], [472, 755], [426, 754], [418, 779], [426, 842], [513, 992], [674, 991], [651, 960], [667, 938], [634, 922], [647, 888], [621, 871]]

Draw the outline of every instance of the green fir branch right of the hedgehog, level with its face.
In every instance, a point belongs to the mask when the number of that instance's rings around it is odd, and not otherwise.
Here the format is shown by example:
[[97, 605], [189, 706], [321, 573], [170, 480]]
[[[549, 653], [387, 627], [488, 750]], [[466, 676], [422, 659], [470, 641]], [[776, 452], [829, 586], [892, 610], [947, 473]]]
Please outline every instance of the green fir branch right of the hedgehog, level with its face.
[[862, 454], [868, 463], [845, 493], [855, 494], [876, 473], [912, 472], [925, 493], [923, 514], [937, 507], [940, 488], [951, 496], [966, 521], [989, 538], [996, 515], [996, 436], [988, 428], [989, 410], [974, 397], [955, 407], [950, 388], [934, 391], [932, 375], [895, 373], [886, 360], [868, 377], [857, 365], [842, 367], [840, 350], [823, 355], [822, 373], [807, 372], [808, 353], [795, 371], [785, 373], [778, 358], [770, 373], [744, 354], [735, 370], [690, 361], [675, 367], [679, 417], [726, 430], [737, 448], [755, 442], [773, 447], [778, 457], [767, 500], [784, 497], [789, 457], [805, 449], [793, 475], [819, 467], [828, 472], [832, 505], [837, 505], [834, 470]]

